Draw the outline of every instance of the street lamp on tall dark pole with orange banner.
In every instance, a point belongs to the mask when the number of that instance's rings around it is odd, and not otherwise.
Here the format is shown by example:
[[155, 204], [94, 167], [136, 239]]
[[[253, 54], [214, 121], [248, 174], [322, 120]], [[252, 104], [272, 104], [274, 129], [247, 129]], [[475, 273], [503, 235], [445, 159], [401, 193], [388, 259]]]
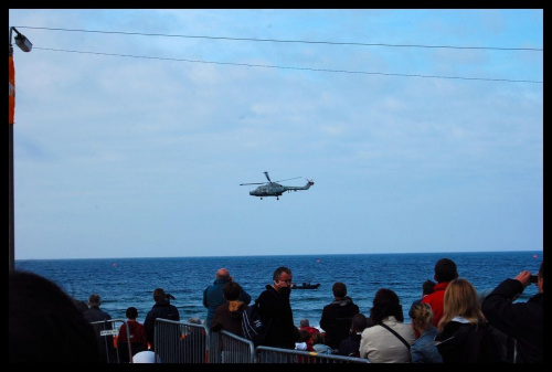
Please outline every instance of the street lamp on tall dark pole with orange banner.
[[13, 116], [15, 111], [15, 68], [13, 67], [13, 45], [11, 44], [12, 32], [17, 33], [15, 44], [23, 52], [30, 52], [33, 44], [15, 28], [10, 28], [10, 40], [8, 42], [8, 57], [9, 57], [9, 114], [8, 114], [8, 141], [9, 141], [9, 194], [10, 194], [10, 242], [9, 242], [9, 256], [10, 256], [10, 272], [15, 268], [15, 227], [14, 227], [14, 213], [13, 213]]

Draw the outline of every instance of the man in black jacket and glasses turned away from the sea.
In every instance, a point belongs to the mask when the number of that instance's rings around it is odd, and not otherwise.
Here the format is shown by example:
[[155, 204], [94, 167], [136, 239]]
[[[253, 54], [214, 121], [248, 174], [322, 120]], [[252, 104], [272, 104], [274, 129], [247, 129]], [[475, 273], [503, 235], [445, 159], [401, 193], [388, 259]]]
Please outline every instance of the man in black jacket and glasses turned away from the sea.
[[273, 273], [273, 285], [266, 285], [257, 298], [263, 322], [269, 325], [265, 339], [259, 343], [262, 346], [295, 349], [295, 342], [300, 338], [289, 302], [291, 278], [291, 269], [278, 267]]

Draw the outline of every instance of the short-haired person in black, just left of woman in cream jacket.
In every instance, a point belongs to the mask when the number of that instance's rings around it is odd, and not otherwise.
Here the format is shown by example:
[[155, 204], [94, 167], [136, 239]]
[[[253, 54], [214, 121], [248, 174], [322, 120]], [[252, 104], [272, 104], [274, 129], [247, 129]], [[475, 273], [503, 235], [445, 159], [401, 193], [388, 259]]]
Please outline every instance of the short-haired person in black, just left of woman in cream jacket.
[[347, 285], [337, 281], [331, 287], [333, 301], [326, 305], [320, 318], [320, 328], [326, 332], [326, 344], [339, 349], [339, 343], [349, 337], [352, 316], [359, 313], [359, 307], [347, 296]]

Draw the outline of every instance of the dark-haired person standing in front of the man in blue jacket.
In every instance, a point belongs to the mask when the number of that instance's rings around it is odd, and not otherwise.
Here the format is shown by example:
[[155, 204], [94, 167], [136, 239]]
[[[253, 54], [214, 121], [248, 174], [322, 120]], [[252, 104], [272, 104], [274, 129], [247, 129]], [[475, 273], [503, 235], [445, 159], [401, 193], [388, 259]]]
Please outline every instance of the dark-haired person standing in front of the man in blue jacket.
[[211, 331], [217, 332], [225, 330], [236, 336], [243, 337], [242, 318], [243, 311], [247, 307], [240, 300], [242, 286], [235, 281], [229, 281], [222, 288], [222, 294], [226, 302], [219, 306], [211, 321]]

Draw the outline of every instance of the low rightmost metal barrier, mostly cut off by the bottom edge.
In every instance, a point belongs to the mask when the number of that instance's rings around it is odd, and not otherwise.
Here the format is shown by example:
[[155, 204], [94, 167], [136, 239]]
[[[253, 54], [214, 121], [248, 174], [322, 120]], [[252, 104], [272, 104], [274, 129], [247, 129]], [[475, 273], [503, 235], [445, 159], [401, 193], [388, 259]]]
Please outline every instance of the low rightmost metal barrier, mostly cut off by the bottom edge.
[[255, 354], [257, 363], [370, 363], [368, 359], [363, 358], [269, 347], [257, 347]]

